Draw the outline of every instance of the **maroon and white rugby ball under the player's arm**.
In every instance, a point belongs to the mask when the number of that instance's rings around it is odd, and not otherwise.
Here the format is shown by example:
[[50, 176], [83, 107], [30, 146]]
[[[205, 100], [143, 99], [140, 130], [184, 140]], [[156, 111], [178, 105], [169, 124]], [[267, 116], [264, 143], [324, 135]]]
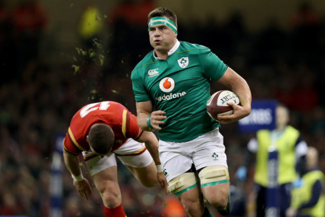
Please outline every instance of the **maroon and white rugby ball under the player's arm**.
[[227, 102], [239, 104], [238, 96], [230, 90], [219, 90], [213, 93], [206, 102], [206, 111], [211, 118], [217, 120], [218, 116], [229, 115], [233, 113], [232, 107]]

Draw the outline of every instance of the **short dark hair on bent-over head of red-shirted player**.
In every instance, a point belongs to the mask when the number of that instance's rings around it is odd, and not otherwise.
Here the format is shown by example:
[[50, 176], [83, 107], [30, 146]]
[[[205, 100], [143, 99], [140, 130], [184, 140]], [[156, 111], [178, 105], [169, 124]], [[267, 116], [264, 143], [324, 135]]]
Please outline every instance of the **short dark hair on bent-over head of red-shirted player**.
[[96, 153], [108, 153], [114, 143], [114, 132], [107, 124], [93, 124], [88, 133], [88, 143]]

